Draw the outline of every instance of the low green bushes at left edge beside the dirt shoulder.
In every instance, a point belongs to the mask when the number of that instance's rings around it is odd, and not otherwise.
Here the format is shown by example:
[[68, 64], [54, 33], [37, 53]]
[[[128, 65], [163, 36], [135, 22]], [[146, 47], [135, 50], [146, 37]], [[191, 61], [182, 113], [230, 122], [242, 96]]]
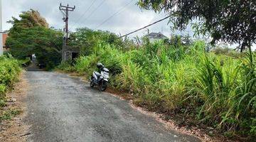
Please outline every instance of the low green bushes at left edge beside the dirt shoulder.
[[0, 57], [0, 121], [10, 119], [18, 111], [16, 110], [1, 110], [6, 106], [6, 92], [12, 87], [14, 82], [18, 80], [18, 75], [21, 72], [21, 67], [18, 60], [11, 57]]

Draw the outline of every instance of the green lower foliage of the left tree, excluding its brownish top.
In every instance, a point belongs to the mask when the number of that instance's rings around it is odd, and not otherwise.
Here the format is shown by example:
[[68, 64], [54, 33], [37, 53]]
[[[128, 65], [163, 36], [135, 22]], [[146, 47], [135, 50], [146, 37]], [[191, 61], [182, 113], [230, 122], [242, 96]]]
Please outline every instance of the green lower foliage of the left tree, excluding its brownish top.
[[15, 58], [26, 59], [36, 54], [41, 64], [53, 68], [61, 60], [62, 33], [50, 28], [32, 27], [25, 28], [17, 33], [12, 33], [6, 40], [10, 53]]

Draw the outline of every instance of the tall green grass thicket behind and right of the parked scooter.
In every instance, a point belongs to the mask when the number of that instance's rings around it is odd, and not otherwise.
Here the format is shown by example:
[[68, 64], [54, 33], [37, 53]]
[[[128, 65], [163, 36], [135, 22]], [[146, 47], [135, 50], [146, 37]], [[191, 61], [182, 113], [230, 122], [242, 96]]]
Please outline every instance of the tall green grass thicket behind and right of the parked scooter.
[[60, 69], [90, 77], [97, 62], [110, 69], [110, 84], [150, 110], [182, 114], [225, 134], [256, 136], [255, 53], [206, 53], [206, 44], [144, 43], [122, 48], [97, 43], [92, 52]]

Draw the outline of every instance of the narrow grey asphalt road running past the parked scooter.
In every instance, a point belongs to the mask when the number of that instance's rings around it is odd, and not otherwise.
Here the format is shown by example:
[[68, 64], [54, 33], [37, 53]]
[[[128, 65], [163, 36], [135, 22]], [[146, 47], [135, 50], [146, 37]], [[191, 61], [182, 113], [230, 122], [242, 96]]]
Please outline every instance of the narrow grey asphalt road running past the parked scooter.
[[28, 141], [199, 141], [58, 72], [26, 72]]

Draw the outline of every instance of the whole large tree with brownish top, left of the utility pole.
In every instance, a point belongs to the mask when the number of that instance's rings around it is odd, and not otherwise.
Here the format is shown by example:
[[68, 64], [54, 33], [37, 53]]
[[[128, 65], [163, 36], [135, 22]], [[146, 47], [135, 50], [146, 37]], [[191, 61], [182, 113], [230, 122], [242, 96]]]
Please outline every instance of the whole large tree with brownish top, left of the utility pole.
[[63, 33], [48, 28], [45, 18], [33, 9], [22, 12], [19, 17], [9, 21], [13, 23], [6, 40], [10, 53], [19, 59], [36, 54], [38, 62], [46, 64], [48, 68], [58, 64]]

